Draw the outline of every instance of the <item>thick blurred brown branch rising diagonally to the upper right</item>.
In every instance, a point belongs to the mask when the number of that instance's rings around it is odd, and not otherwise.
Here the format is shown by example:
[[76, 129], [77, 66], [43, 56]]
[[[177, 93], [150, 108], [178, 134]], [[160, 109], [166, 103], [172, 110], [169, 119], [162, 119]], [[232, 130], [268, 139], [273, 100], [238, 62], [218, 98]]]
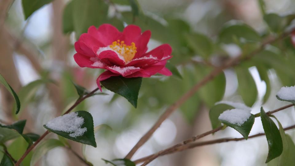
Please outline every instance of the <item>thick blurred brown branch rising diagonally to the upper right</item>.
[[171, 113], [173, 113], [177, 108], [179, 108], [187, 99], [189, 99], [191, 96], [193, 96], [203, 85], [211, 81], [214, 77], [216, 77], [218, 74], [222, 73], [224, 69], [233, 67], [237, 65], [241, 60], [247, 60], [250, 57], [253, 57], [255, 54], [262, 51], [266, 45], [273, 43], [275, 41], [281, 40], [291, 34], [293, 30], [288, 31], [282, 35], [280, 35], [278, 38], [269, 38], [267, 41], [262, 42], [260, 47], [258, 47], [256, 50], [252, 51], [249, 54], [243, 55], [241, 54], [238, 57], [232, 58], [228, 60], [224, 65], [220, 67], [216, 67], [211, 73], [209, 73], [206, 77], [203, 78], [200, 82], [198, 82], [192, 89], [190, 89], [187, 93], [185, 93], [182, 97], [179, 98], [174, 104], [172, 104], [170, 107], [168, 107], [165, 112], [159, 117], [158, 121], [151, 127], [151, 129], [144, 134], [140, 138], [140, 140], [136, 143], [136, 145], [131, 149], [131, 151], [126, 155], [126, 159], [131, 159], [131, 157], [134, 155], [134, 153], [146, 142], [148, 139], [152, 136], [152, 134], [156, 131], [157, 128], [162, 124], [163, 121], [165, 121]]

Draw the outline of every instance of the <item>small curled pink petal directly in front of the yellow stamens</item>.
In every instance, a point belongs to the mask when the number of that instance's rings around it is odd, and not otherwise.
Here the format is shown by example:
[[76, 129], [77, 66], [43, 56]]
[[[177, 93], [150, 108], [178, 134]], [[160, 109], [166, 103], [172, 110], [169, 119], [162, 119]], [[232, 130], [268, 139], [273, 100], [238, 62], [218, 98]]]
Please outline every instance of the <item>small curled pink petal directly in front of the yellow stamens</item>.
[[108, 65], [123, 66], [125, 64], [125, 61], [122, 59], [123, 57], [120, 58], [119, 55], [112, 50], [102, 51], [97, 57]]

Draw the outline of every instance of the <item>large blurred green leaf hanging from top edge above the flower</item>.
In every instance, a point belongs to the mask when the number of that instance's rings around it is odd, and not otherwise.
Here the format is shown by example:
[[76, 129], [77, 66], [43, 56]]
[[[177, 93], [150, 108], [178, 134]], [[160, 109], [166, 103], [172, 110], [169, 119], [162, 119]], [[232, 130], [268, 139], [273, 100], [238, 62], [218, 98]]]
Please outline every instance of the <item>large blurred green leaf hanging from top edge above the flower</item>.
[[73, 0], [72, 12], [74, 30], [79, 37], [90, 26], [98, 27], [107, 19], [108, 5], [103, 0]]

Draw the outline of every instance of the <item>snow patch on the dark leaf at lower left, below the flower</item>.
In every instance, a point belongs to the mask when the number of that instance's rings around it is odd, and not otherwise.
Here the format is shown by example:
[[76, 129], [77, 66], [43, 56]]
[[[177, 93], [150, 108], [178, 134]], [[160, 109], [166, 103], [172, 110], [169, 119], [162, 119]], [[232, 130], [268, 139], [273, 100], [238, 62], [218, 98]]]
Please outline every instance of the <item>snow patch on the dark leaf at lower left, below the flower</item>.
[[82, 124], [84, 124], [84, 118], [78, 117], [78, 113], [73, 112], [54, 118], [45, 125], [52, 130], [70, 133], [70, 137], [76, 138], [87, 131], [86, 127], [81, 128]]

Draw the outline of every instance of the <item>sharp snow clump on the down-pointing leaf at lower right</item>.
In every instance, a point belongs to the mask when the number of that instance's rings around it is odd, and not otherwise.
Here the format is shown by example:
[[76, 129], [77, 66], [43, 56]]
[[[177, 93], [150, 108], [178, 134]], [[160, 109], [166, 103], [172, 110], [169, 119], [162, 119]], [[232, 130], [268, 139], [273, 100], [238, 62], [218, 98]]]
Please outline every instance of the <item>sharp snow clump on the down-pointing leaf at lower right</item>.
[[241, 126], [242, 124], [244, 124], [244, 122], [246, 122], [249, 119], [250, 116], [250, 110], [230, 109], [220, 114], [218, 119]]

